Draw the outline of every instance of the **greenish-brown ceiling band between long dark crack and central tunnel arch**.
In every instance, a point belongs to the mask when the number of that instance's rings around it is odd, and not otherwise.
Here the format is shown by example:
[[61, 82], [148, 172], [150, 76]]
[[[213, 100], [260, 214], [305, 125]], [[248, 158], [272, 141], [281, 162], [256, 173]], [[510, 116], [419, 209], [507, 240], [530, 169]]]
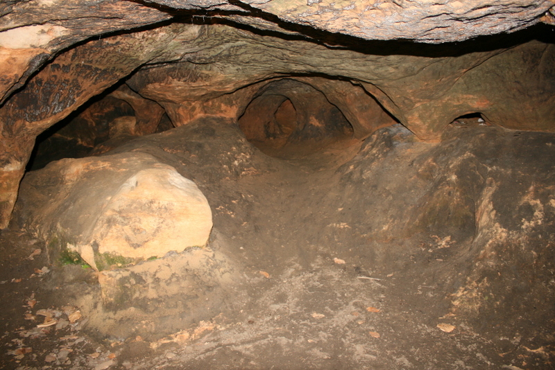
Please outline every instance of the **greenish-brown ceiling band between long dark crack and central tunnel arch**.
[[[496, 125], [551, 131], [555, 49], [547, 42], [527, 42], [525, 33], [520, 37], [521, 45], [520, 40], [499, 37], [484, 44], [476, 41], [460, 46], [404, 49], [400, 44], [361, 42], [350, 50], [334, 50], [301, 40], [211, 26], [199, 30], [198, 38], [187, 46], [171, 49], [174, 58], [181, 55], [185, 60], [143, 69], [128, 84], [173, 112], [182, 107], [186, 114], [176, 119], [187, 122], [194, 118], [191, 111], [203, 112], [200, 102], [241, 94], [241, 87], [252, 88], [253, 82], [288, 74], [323, 73], [364, 87], [370, 94], [366, 100], [375, 98], [421, 139], [438, 140], [446, 125], [470, 113], [483, 113]], [[191, 49], [198, 51], [191, 53]], [[515, 81], [518, 89], [501, 87]], [[521, 98], [524, 93], [526, 99]], [[365, 95], [361, 91], [356, 94]], [[330, 91], [327, 95], [341, 104], [334, 97], [338, 94]], [[244, 100], [234, 101], [240, 104]], [[199, 109], [190, 109], [191, 105]], [[345, 107], [345, 112], [348, 109]], [[211, 113], [217, 114], [216, 110]], [[220, 114], [229, 116], [230, 112], [237, 111], [221, 109]], [[352, 125], [359, 123], [353, 119]]]

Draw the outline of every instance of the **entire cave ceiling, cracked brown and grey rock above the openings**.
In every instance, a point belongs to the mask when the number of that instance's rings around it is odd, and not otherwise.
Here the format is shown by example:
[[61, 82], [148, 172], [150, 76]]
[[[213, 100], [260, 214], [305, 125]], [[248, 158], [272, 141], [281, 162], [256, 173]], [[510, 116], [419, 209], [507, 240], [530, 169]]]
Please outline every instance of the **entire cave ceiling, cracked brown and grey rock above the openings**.
[[400, 122], [437, 141], [466, 114], [553, 132], [553, 24], [552, 0], [3, 1], [0, 227], [37, 135], [108, 89], [140, 134], [164, 112], [237, 120], [268, 84], [284, 117], [286, 87], [323, 94], [357, 139]]

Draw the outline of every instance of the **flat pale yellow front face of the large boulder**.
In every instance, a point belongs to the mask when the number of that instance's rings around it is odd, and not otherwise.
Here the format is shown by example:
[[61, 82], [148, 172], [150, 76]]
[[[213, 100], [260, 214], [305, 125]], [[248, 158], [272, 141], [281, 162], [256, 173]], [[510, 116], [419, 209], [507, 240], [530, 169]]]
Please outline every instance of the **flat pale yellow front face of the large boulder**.
[[146, 259], [203, 247], [211, 229], [212, 211], [194, 182], [176, 170], [148, 168], [119, 188], [90, 240], [100, 254]]

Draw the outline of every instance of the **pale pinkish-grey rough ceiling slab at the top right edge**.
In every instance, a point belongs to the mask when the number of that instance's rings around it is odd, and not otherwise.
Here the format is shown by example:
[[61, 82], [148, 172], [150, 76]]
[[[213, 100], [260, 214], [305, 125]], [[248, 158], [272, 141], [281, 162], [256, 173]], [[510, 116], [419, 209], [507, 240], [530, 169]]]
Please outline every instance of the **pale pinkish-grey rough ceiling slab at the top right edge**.
[[259, 1], [258, 8], [293, 23], [363, 39], [461, 41], [535, 24], [553, 8], [552, 1]]

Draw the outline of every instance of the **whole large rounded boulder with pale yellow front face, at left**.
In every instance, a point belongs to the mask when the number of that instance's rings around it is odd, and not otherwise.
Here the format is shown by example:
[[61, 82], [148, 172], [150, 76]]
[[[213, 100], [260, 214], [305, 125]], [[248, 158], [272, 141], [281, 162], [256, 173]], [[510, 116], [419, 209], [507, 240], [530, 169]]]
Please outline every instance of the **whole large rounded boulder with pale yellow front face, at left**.
[[212, 229], [194, 182], [146, 154], [62, 159], [22, 187], [22, 227], [98, 270], [203, 247]]

